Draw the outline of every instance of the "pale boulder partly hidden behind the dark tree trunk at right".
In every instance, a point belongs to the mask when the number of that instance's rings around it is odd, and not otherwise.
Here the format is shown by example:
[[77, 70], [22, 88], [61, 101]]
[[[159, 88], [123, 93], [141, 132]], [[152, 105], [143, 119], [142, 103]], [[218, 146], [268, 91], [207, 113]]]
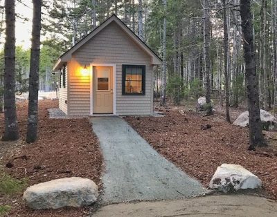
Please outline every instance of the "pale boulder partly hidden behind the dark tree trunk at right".
[[[260, 109], [260, 120], [262, 121], [262, 129], [267, 131], [277, 130], [277, 119], [271, 113]], [[241, 113], [233, 124], [242, 127], [249, 126], [249, 112], [244, 111]]]

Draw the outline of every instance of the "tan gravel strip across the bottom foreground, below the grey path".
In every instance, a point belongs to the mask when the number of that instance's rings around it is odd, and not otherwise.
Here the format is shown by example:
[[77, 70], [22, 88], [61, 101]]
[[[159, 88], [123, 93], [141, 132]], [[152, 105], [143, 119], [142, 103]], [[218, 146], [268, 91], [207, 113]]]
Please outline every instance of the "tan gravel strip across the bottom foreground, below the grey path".
[[138, 202], [102, 207], [93, 217], [241, 216], [276, 217], [277, 203], [255, 196], [206, 196], [193, 199]]

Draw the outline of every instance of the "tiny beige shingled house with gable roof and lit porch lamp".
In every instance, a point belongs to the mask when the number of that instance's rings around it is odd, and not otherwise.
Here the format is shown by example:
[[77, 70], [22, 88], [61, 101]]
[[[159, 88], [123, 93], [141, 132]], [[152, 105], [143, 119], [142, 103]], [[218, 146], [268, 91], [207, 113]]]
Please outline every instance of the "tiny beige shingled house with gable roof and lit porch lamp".
[[60, 109], [69, 116], [152, 115], [153, 68], [161, 63], [112, 15], [57, 60]]

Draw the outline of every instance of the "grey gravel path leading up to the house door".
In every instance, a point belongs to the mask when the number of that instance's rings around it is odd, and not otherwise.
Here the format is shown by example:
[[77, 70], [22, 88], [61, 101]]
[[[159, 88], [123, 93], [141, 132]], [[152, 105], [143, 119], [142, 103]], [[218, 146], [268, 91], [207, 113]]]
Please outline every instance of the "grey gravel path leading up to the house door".
[[172, 200], [206, 192], [120, 117], [92, 117], [91, 122], [105, 159], [103, 203]]

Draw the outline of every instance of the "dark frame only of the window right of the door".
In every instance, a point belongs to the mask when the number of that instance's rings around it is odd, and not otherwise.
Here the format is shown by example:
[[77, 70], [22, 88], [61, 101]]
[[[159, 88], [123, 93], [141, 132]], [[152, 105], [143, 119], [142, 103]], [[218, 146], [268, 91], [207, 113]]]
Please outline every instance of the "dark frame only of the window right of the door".
[[[126, 69], [127, 68], [141, 68], [142, 69], [142, 89], [143, 93], [126, 93], [125, 82], [126, 82]], [[122, 95], [145, 95], [145, 65], [122, 65]]]

